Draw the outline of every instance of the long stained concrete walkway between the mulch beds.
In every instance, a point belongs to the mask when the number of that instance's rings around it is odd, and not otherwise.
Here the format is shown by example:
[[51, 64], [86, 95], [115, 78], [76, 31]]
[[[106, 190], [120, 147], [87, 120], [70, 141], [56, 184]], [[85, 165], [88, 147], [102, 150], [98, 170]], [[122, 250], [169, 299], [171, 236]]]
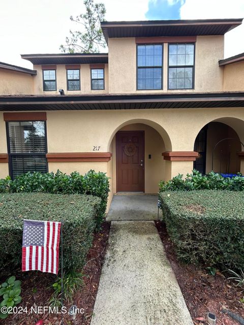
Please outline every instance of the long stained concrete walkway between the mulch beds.
[[193, 325], [154, 221], [112, 221], [91, 325]]

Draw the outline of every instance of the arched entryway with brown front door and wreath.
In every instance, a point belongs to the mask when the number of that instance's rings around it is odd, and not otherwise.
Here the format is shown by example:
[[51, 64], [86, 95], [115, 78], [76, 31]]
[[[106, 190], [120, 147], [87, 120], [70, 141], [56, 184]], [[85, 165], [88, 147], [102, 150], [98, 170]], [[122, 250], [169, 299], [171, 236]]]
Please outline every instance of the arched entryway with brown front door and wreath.
[[[113, 192], [157, 193], [159, 181], [165, 179], [167, 161], [162, 152], [170, 150], [157, 129], [144, 120], [132, 120], [120, 125], [113, 135], [109, 151]], [[155, 123], [157, 127], [157, 123]], [[160, 131], [160, 127], [158, 128]], [[170, 144], [171, 146], [171, 144]]]

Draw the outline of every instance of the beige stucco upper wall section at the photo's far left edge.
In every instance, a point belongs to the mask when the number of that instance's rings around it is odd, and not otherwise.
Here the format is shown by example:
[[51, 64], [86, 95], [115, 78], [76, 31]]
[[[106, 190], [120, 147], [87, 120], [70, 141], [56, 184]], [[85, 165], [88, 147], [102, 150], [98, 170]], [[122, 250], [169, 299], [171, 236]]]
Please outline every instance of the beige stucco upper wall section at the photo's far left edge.
[[35, 76], [0, 69], [0, 95], [33, 94]]

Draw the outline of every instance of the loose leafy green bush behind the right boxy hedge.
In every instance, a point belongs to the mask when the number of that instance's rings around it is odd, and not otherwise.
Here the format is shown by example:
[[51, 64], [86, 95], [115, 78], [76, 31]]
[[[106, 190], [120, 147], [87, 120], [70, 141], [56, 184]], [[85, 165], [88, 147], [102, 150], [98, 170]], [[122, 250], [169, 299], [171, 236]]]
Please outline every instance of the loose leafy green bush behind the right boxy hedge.
[[183, 175], [173, 177], [170, 181], [159, 183], [160, 192], [177, 191], [177, 190], [195, 190], [195, 189], [227, 189], [231, 191], [244, 190], [244, 177], [238, 173], [232, 178], [224, 178], [218, 173], [210, 172], [208, 175], [202, 175], [196, 170], [192, 174], [187, 174], [184, 179]]

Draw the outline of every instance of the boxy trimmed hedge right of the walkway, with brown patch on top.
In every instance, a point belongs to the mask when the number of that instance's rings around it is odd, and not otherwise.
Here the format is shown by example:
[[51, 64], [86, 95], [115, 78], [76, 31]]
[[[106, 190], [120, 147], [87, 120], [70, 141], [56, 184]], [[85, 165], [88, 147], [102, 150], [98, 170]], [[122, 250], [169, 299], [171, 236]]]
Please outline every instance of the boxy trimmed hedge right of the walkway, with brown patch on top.
[[244, 193], [198, 190], [160, 193], [178, 257], [207, 266], [243, 268]]

